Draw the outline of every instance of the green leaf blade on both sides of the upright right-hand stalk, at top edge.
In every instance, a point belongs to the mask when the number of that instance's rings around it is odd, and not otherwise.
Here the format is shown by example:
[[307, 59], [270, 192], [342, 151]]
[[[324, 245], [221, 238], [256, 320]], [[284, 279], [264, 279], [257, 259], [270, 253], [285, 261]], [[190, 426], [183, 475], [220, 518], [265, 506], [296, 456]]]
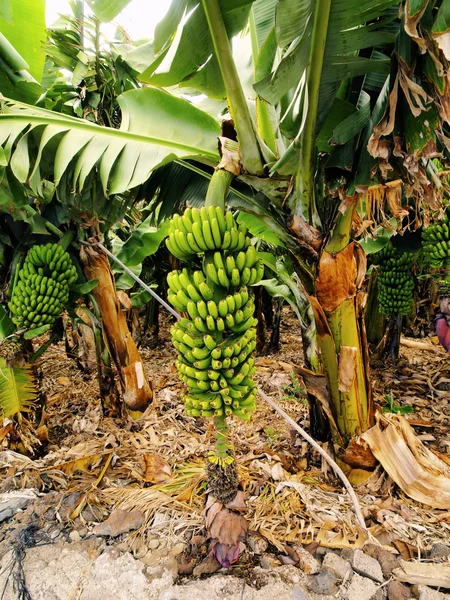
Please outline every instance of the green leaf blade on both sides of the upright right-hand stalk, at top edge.
[[[372, 60], [358, 53], [394, 41], [395, 32], [389, 23], [396, 16], [399, 3], [399, 0], [331, 0], [321, 75], [319, 125], [326, 114], [324, 108], [329, 110], [342, 81], [368, 73], [389, 73], [388, 60]], [[284, 55], [274, 72], [255, 84], [255, 90], [268, 102], [278, 103], [289, 90], [297, 88], [302, 78], [310, 55], [314, 5], [313, 0], [280, 0], [278, 3], [276, 34]]]

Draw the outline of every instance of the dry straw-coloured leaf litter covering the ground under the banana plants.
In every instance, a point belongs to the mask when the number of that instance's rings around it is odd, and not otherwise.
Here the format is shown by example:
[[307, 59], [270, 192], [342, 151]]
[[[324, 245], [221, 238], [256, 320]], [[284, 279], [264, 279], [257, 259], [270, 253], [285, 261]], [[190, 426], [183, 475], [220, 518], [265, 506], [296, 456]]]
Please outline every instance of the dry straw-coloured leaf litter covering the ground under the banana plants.
[[[258, 385], [308, 428], [307, 406], [293, 397], [290, 375], [277, 363], [301, 361], [298, 327], [286, 314], [281, 339], [280, 355], [258, 359]], [[408, 419], [419, 435], [428, 436], [424, 443], [448, 457], [450, 394], [441, 393], [449, 378], [445, 353], [402, 352], [398, 368], [373, 372], [376, 400], [384, 404], [385, 395], [395, 390], [396, 403], [414, 407]], [[128, 537], [131, 549], [152, 526], [169, 538], [201, 527], [203, 457], [212, 442], [211, 425], [187, 418], [180, 404], [167, 328], [160, 345], [144, 350], [143, 356], [156, 400], [135, 422], [103, 418], [94, 376], [83, 375], [62, 346], [50, 350], [43, 363], [49, 432], [45, 453], [33, 460], [8, 451], [0, 454], [3, 489], [16, 485], [81, 492], [69, 519], [82, 518], [81, 508], [88, 504], [100, 507], [105, 516], [113, 508], [142, 510], [145, 524]], [[268, 406], [261, 402], [251, 423], [235, 423], [234, 440], [250, 529], [259, 530], [279, 549], [294, 541], [320, 541], [330, 547], [364, 543], [365, 534], [340, 483], [304, 442], [291, 437], [289, 427]], [[172, 469], [172, 477], [159, 485], [145, 478], [144, 457], [155, 453]], [[358, 492], [369, 530], [381, 543], [401, 540], [424, 550], [436, 540], [448, 540], [450, 512], [415, 503], [380, 469]]]

